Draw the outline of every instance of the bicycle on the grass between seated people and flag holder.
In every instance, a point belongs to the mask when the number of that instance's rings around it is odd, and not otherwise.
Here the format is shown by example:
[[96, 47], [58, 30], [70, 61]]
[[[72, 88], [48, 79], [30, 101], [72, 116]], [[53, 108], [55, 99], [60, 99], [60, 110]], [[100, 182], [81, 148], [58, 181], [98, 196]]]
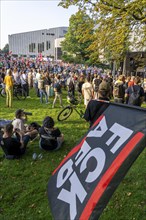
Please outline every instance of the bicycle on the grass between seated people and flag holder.
[[69, 116], [73, 113], [73, 110], [76, 111], [76, 113], [80, 116], [80, 118], [83, 118], [84, 113], [81, 109], [78, 109], [79, 102], [74, 98], [67, 100], [70, 105], [66, 106], [64, 109], [60, 111], [60, 113], [57, 116], [58, 121], [65, 121]]

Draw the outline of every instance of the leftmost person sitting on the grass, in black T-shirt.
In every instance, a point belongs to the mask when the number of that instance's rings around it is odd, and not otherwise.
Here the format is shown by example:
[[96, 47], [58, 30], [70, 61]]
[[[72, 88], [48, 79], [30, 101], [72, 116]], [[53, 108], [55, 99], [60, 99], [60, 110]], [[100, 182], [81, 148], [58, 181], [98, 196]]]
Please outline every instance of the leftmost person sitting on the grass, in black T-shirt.
[[23, 136], [19, 129], [13, 130], [12, 124], [7, 124], [4, 127], [4, 134], [1, 138], [0, 145], [5, 152], [5, 156], [18, 158], [26, 151], [26, 146], [29, 141], [29, 136]]

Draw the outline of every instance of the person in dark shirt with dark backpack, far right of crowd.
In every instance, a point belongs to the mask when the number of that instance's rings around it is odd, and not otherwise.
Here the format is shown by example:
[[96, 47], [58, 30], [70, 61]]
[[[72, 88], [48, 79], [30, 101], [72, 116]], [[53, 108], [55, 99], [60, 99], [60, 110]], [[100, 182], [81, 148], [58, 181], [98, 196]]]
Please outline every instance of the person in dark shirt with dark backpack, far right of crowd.
[[134, 85], [125, 91], [126, 103], [129, 105], [141, 106], [144, 101], [144, 89], [141, 86], [140, 77], [134, 78]]

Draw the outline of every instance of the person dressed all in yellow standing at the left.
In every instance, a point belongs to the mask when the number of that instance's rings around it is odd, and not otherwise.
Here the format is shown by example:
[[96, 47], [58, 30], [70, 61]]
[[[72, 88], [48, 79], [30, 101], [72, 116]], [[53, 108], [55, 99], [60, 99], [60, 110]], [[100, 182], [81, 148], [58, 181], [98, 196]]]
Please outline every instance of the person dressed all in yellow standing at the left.
[[13, 97], [13, 78], [12, 71], [9, 69], [8, 75], [4, 78], [5, 90], [6, 90], [6, 106], [12, 107], [12, 97]]

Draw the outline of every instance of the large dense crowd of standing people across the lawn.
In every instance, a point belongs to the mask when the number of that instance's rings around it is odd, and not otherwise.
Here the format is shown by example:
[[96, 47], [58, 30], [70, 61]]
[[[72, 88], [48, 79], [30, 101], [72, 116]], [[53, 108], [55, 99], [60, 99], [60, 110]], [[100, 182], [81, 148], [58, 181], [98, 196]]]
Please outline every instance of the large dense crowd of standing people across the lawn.
[[[63, 106], [62, 89], [65, 88], [73, 96], [84, 99], [87, 107], [91, 99], [97, 99], [100, 87], [108, 90], [108, 98], [115, 102], [130, 104], [129, 96], [134, 92], [140, 93], [141, 101], [146, 101], [146, 79], [135, 76], [104, 73], [97, 67], [85, 67], [63, 62], [35, 61], [33, 59], [3, 57], [0, 58], [0, 82], [5, 86], [7, 99], [6, 106], [12, 107], [12, 93], [14, 85], [21, 85], [30, 97], [30, 89], [34, 88], [40, 102], [49, 104], [50, 96], [54, 97], [52, 108], [57, 99]], [[130, 87], [130, 88], [129, 88]]]

